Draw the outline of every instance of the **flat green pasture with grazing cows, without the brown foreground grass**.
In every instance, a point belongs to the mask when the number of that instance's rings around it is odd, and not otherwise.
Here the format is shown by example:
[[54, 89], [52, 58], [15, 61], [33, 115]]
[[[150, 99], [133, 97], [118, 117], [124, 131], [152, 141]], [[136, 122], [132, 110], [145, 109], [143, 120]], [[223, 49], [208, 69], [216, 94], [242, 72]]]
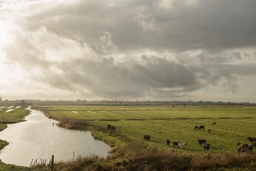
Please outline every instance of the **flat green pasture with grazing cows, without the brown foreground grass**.
[[[255, 106], [83, 106], [50, 105], [34, 106], [58, 118], [87, 120], [90, 125], [107, 129], [114, 125], [116, 132], [135, 142], [162, 149], [178, 147], [166, 145], [166, 139], [187, 142], [183, 152], [204, 152], [198, 139], [207, 138], [210, 152], [235, 152], [238, 142], [247, 142], [247, 137], [256, 137]], [[216, 121], [216, 125], [212, 125]], [[205, 125], [205, 130], [193, 130], [195, 125]], [[207, 130], [210, 129], [210, 134]], [[149, 141], [143, 135], [151, 135]], [[115, 145], [118, 146], [117, 142]]]

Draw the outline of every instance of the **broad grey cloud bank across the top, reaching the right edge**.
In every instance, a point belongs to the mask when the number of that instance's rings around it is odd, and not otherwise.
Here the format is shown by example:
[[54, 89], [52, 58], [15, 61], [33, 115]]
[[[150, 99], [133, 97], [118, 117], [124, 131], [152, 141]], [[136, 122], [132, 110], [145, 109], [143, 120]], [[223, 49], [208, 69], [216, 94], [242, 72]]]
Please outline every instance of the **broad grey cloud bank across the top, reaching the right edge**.
[[162, 9], [158, 2], [63, 3], [26, 16], [24, 27], [46, 26], [62, 36], [79, 36], [92, 46], [107, 31], [119, 49], [130, 50], [184, 51], [256, 44], [255, 1], [199, 1], [191, 7], [176, 1], [174, 9]]

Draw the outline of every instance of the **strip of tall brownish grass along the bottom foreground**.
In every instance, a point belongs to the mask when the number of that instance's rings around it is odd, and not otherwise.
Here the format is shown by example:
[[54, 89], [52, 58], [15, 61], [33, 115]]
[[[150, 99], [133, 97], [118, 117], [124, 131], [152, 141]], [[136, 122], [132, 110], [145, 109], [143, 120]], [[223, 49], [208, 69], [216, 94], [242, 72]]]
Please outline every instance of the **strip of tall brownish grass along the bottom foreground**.
[[[132, 149], [127, 149], [132, 150]], [[78, 157], [68, 162], [56, 162], [54, 170], [250, 170], [256, 167], [256, 155], [249, 153], [225, 153], [187, 155], [176, 150], [159, 150], [147, 147], [140, 155], [134, 153], [122, 160], [97, 156]]]

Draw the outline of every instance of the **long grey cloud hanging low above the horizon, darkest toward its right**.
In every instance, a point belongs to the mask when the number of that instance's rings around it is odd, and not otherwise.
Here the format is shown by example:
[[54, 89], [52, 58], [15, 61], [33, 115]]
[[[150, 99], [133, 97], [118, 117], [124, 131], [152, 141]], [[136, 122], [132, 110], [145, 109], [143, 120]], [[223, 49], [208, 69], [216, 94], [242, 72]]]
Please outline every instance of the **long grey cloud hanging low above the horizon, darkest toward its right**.
[[[156, 56], [142, 56], [142, 64], [122, 63], [115, 65], [114, 58], [91, 61], [71, 61], [59, 63], [58, 68], [64, 73], [39, 78], [50, 86], [80, 91], [75, 85], [84, 87], [90, 93], [106, 98], [125, 96], [129, 98], [146, 95], [166, 96], [178, 91], [197, 90], [203, 86], [196, 77], [195, 70], [173, 61]], [[203, 71], [196, 71], [196, 73]], [[46, 76], [46, 77], [44, 77]], [[206, 79], [206, 78], [204, 78]]]

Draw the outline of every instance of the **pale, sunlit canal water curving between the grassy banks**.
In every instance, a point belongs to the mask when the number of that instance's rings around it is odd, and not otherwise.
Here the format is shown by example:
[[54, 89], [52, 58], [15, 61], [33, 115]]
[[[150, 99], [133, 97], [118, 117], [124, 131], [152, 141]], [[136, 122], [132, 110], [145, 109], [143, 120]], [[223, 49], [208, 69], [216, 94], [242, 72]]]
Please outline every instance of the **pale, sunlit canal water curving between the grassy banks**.
[[[31, 109], [29, 109], [31, 110]], [[95, 140], [90, 131], [66, 130], [53, 123], [38, 110], [31, 110], [27, 121], [9, 124], [0, 132], [0, 139], [9, 142], [0, 152], [0, 160], [7, 164], [30, 166], [36, 159], [50, 162], [73, 160], [79, 156], [107, 157], [110, 145]], [[33, 163], [32, 162], [32, 163]]]

